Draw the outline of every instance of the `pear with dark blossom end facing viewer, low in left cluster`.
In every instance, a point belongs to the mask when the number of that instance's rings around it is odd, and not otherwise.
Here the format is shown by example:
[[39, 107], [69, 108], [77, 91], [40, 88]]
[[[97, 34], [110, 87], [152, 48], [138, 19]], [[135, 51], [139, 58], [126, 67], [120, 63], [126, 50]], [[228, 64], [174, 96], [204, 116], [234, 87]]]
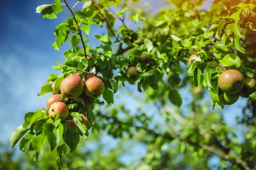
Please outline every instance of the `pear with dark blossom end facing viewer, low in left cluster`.
[[68, 113], [67, 105], [63, 102], [55, 102], [49, 108], [49, 117], [52, 119], [59, 115], [59, 118], [63, 121], [67, 118]]

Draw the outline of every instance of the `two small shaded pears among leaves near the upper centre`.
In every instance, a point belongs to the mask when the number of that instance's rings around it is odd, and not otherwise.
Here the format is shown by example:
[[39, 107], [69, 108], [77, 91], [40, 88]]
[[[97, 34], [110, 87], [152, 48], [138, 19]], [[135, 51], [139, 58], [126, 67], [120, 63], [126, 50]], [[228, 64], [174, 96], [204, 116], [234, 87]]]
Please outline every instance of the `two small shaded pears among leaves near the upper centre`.
[[[140, 55], [140, 62], [141, 63], [147, 63], [150, 61], [150, 55], [143, 53]], [[140, 78], [140, 73], [137, 71], [136, 67], [129, 67], [126, 71], [125, 71], [125, 75], [128, 79], [129, 82], [135, 82], [137, 79]]]

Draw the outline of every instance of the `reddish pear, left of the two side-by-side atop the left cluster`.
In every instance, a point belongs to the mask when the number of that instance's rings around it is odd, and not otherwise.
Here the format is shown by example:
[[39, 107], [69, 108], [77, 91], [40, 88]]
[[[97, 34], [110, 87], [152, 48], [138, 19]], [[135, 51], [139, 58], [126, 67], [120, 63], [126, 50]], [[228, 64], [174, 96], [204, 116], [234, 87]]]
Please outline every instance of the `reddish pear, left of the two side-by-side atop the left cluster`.
[[73, 99], [79, 97], [84, 90], [84, 82], [79, 73], [66, 77], [61, 81], [61, 94], [64, 97]]

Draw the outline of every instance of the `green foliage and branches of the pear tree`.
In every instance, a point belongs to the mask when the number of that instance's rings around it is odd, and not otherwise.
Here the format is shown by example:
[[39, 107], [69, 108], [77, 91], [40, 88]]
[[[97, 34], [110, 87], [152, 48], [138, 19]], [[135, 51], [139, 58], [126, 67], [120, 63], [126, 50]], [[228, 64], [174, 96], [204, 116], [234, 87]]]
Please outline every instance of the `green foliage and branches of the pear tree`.
[[[57, 149], [57, 167], [61, 169], [67, 151], [76, 152], [79, 142], [89, 135], [89, 128], [80, 116], [80, 113], [85, 113], [88, 125], [93, 128], [91, 133], [95, 132], [94, 129], [106, 130], [114, 138], [127, 135], [147, 144], [148, 153], [136, 165], [139, 169], [178, 166], [174, 161], [167, 162], [173, 155], [163, 147], [178, 147], [181, 153], [187, 150], [184, 158], [192, 155], [195, 161], [204, 162], [200, 167], [184, 160], [194, 169], [208, 168], [205, 162], [210, 157], [209, 153], [222, 160], [222, 167], [256, 168], [253, 152], [256, 147], [256, 94], [250, 94], [244, 117], [239, 120], [241, 125], [247, 123], [247, 135], [242, 143], [238, 142], [236, 132], [224, 123], [222, 115], [209, 112], [207, 108], [209, 102], [212, 110], [215, 105], [224, 108], [219, 99], [221, 89], [218, 78], [226, 70], [235, 69], [244, 77], [255, 77], [254, 0], [215, 0], [208, 11], [198, 9], [203, 0], [166, 0], [166, 8], [160, 8], [157, 15], [148, 8], [141, 8], [139, 0], [85, 0], [82, 9], [76, 11], [76, 5], [83, 1], [78, 1], [73, 8], [66, 0], [64, 3], [55, 0], [52, 5], [36, 8], [43, 18], [55, 19], [59, 12], [70, 15], [56, 26], [52, 47], [59, 51], [60, 45], [65, 42], [72, 45], [64, 52], [65, 62], [58, 60], [58, 65], [52, 66], [61, 71], [61, 75], [51, 74], [38, 96], [52, 92], [61, 94], [59, 89], [63, 79], [79, 73], [84, 82], [90, 73], [104, 82], [102, 97], [108, 106], [104, 110], [86, 108], [90, 103], [105, 104], [101, 98], [90, 97], [86, 91], [80, 95], [82, 100], [66, 97], [69, 114], [78, 127], [76, 132], [69, 130], [58, 116], [51, 119], [46, 108], [28, 112], [23, 125], [12, 134], [12, 147], [20, 140], [20, 150], [24, 152], [28, 148], [31, 158], [38, 161], [38, 157], [44, 155], [45, 145], [49, 144], [51, 150]], [[119, 11], [113, 11], [113, 6]], [[127, 19], [140, 25], [131, 29], [126, 25]], [[107, 28], [108, 34], [91, 35], [92, 25]], [[91, 36], [99, 41], [99, 46], [90, 45], [87, 37]], [[140, 60], [142, 54], [150, 56], [148, 62]], [[196, 55], [195, 60], [189, 67], [184, 66], [192, 54]], [[199, 66], [201, 63], [207, 63], [207, 67]], [[139, 73], [139, 77], [137, 73], [134, 77], [137, 81], [131, 81], [125, 74], [131, 67]], [[164, 119], [164, 130], [158, 126], [151, 129], [153, 118], [142, 110], [132, 116], [123, 105], [113, 105], [113, 95], [122, 85], [125, 86], [126, 81], [136, 84], [137, 91], [142, 92], [144, 98], [138, 101], [157, 107]], [[193, 100], [188, 107], [192, 113], [183, 117], [179, 109], [184, 101], [180, 90], [187, 85], [192, 85], [194, 89]], [[202, 86], [209, 92], [205, 105], [202, 104], [205, 92]], [[174, 107], [170, 107], [170, 103]], [[125, 116], [120, 117], [120, 114]], [[80, 136], [83, 136], [82, 140]], [[178, 154], [175, 153], [175, 156]], [[122, 167], [122, 164], [119, 165]]]

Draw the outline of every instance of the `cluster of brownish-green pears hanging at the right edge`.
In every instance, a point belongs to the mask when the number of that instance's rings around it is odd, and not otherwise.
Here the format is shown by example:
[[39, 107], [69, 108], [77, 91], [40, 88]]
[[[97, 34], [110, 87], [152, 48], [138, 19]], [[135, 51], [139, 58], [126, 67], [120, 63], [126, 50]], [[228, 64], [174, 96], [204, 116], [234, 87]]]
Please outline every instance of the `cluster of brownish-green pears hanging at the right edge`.
[[239, 96], [248, 98], [256, 91], [256, 80], [243, 76], [240, 71], [230, 69], [221, 73], [218, 78], [220, 102], [224, 105], [232, 105]]

